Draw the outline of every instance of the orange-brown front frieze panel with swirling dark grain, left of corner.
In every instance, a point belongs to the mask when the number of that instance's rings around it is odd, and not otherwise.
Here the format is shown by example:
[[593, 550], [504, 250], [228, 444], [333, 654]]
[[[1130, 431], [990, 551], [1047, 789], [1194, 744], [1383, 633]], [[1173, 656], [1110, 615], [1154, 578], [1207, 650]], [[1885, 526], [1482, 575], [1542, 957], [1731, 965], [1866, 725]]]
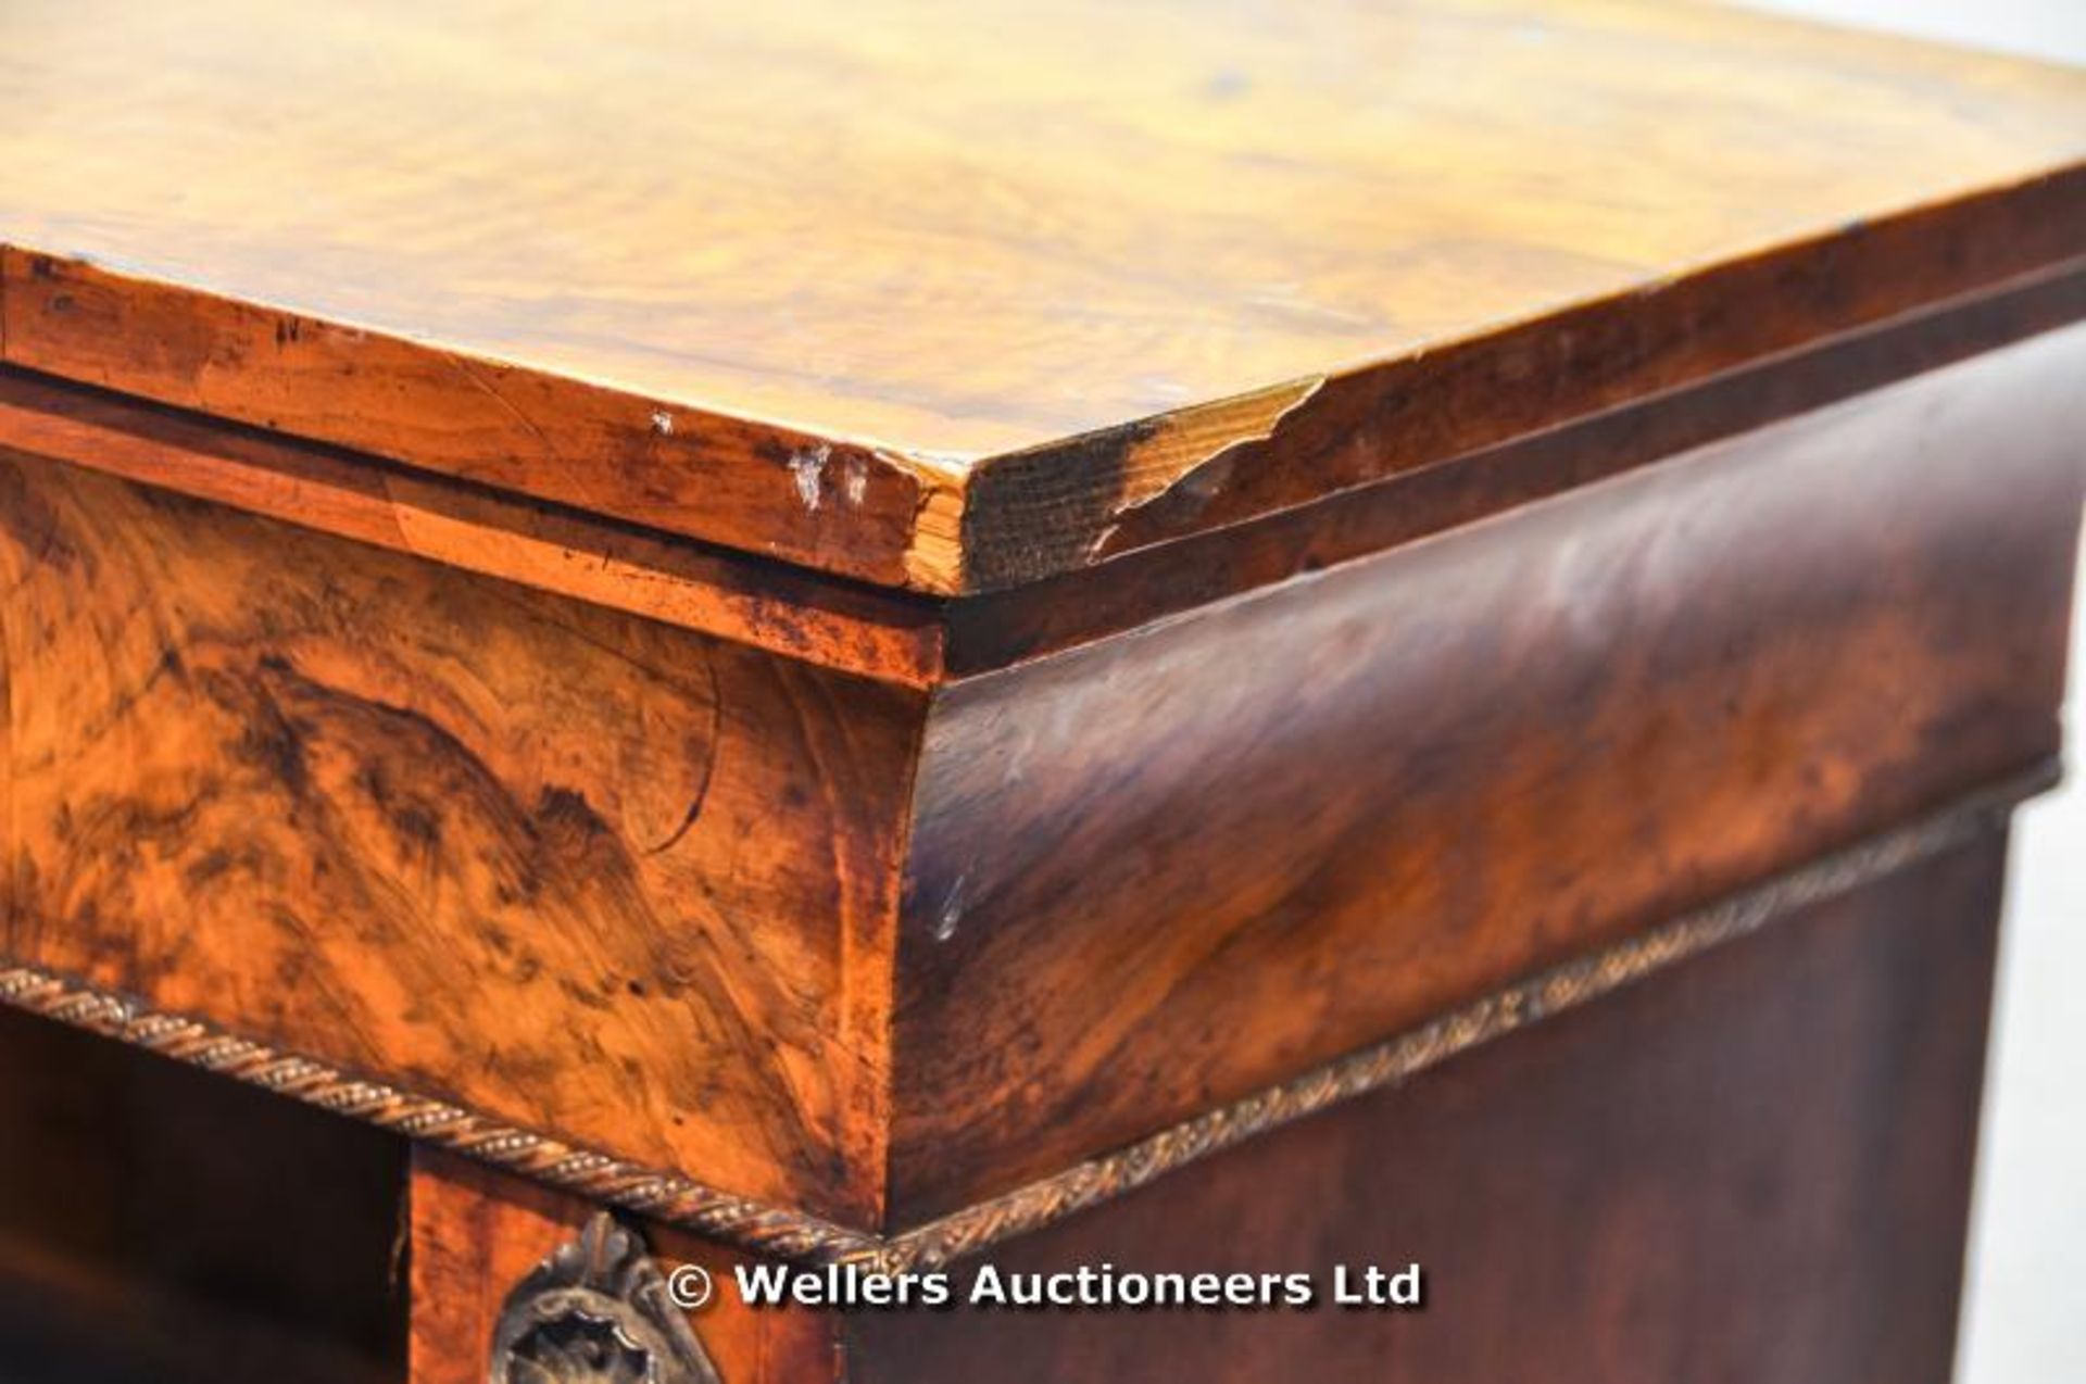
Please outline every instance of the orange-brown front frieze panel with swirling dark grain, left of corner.
[[920, 698], [0, 459], [10, 957], [862, 1221]]

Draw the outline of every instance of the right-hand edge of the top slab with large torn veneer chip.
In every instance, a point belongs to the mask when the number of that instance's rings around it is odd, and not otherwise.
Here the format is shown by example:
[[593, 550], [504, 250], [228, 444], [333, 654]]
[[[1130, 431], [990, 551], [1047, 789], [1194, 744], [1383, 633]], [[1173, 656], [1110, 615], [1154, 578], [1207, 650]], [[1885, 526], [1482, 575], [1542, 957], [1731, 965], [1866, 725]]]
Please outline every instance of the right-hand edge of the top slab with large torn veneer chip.
[[1717, 263], [1293, 388], [1277, 415], [1185, 411], [980, 463], [962, 586], [993, 590], [1458, 463], [2086, 252], [2086, 169]]

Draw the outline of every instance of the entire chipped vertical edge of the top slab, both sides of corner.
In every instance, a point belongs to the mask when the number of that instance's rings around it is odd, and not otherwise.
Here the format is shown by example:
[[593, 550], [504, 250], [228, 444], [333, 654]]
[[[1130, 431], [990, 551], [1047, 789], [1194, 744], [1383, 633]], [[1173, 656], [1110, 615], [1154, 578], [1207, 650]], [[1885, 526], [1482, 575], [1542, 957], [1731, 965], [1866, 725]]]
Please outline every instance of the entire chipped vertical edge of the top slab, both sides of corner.
[[[2086, 165], [2073, 163], [1471, 336], [991, 456], [734, 417], [23, 244], [0, 244], [0, 363], [490, 479], [816, 571], [962, 596], [1091, 569], [1990, 292], [2086, 252], [2082, 225]], [[202, 398], [200, 361], [123, 350], [144, 331], [179, 338], [184, 350], [232, 342], [238, 350], [219, 354], [238, 369], [213, 373]], [[1531, 367], [1554, 388], [1531, 388]], [[298, 402], [315, 379], [348, 388], [365, 377], [386, 381], [390, 417], [359, 411], [353, 398], [332, 398], [319, 413]], [[547, 400], [522, 431], [471, 440], [428, 423], [459, 400], [482, 411], [503, 404], [492, 417], [513, 423], [515, 390]], [[1471, 398], [1498, 406], [1473, 409]], [[1327, 444], [1329, 434], [1371, 421], [1393, 427], [1400, 446], [1360, 454]], [[659, 498], [649, 492], [674, 488], [632, 488], [611, 473], [607, 454], [628, 463], [645, 448], [665, 448], [649, 467], [699, 459], [730, 479], [707, 492], [738, 498], [730, 506]], [[588, 471], [572, 459], [601, 465]], [[809, 513], [818, 506], [807, 511], [799, 496], [803, 467], [845, 471], [843, 490], [862, 498], [845, 513]]]

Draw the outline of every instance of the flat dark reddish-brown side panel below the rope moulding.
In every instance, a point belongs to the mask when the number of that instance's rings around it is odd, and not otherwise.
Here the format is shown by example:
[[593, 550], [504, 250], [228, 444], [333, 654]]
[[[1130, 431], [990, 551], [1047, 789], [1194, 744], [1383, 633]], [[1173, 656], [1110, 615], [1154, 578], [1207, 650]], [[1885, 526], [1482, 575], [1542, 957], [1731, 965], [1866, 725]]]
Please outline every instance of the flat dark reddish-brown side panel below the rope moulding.
[[1427, 1274], [1418, 1313], [849, 1319], [853, 1384], [1942, 1384], [1990, 838], [1005, 1246], [1008, 1271]]

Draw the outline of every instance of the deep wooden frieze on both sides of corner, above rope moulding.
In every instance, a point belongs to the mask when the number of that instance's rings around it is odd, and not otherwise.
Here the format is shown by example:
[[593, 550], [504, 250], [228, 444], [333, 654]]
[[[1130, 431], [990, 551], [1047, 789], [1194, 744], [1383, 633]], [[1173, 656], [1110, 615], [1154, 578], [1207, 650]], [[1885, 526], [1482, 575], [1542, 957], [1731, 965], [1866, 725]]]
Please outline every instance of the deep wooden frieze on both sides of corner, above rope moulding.
[[277, 444], [13, 381], [6, 955], [907, 1230], [2051, 757], [2082, 361], [937, 690], [121, 479]]

